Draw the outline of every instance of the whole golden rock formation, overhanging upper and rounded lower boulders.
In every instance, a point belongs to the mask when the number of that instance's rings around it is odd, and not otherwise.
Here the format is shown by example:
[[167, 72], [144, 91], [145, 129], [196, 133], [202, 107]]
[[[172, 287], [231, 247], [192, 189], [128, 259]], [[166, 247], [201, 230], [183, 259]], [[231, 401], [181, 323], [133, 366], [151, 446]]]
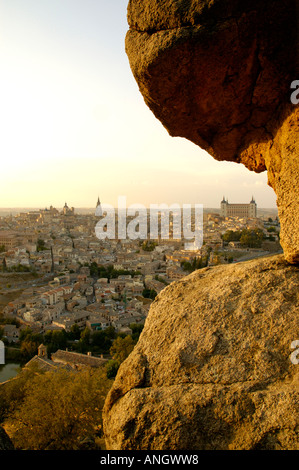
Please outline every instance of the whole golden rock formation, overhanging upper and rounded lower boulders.
[[170, 135], [268, 171], [284, 256], [205, 268], [159, 294], [107, 396], [107, 449], [298, 449], [296, 4], [129, 2], [146, 104]]

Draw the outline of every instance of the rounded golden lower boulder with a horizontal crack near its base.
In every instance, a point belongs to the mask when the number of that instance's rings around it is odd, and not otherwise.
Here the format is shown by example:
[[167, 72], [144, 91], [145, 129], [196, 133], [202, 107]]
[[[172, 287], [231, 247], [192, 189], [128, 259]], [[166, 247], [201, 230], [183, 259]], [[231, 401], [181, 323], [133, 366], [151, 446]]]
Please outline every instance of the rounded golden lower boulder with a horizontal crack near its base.
[[282, 255], [165, 288], [104, 407], [108, 449], [299, 449], [299, 269]]

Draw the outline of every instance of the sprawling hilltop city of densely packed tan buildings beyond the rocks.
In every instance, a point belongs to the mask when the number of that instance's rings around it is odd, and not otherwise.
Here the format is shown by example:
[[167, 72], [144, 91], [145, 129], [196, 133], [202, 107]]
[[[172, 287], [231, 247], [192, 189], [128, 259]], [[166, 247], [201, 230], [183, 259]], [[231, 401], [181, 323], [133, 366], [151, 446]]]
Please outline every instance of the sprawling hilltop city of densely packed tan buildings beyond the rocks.
[[[95, 209], [100, 204], [98, 198]], [[18, 320], [3, 326], [8, 343], [28, 327], [44, 334], [112, 326], [130, 335], [171, 282], [195, 269], [281, 252], [278, 217], [259, 214], [253, 197], [249, 204], [223, 197], [218, 210], [205, 210], [204, 241], [195, 251], [171, 237], [99, 240], [98, 220], [95, 211], [82, 214], [67, 203], [0, 218], [0, 313]], [[16, 273], [23, 274], [17, 281]]]

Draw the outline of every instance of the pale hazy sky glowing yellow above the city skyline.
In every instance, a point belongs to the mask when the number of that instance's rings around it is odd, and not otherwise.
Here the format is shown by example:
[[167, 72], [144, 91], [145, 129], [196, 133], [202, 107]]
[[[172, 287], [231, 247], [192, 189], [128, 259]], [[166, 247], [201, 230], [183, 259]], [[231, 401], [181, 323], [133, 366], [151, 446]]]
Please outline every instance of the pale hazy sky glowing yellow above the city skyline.
[[275, 207], [267, 175], [172, 138], [125, 54], [128, 0], [0, 0], [0, 207]]

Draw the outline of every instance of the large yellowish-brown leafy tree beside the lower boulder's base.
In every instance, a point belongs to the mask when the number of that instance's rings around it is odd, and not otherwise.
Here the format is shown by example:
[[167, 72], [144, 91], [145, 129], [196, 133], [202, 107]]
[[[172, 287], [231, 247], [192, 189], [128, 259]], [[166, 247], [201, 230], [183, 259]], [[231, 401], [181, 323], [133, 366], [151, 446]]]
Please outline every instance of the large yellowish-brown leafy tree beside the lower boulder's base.
[[34, 376], [26, 382], [20, 406], [5, 422], [15, 448], [78, 450], [87, 437], [95, 440], [110, 386], [104, 368]]

